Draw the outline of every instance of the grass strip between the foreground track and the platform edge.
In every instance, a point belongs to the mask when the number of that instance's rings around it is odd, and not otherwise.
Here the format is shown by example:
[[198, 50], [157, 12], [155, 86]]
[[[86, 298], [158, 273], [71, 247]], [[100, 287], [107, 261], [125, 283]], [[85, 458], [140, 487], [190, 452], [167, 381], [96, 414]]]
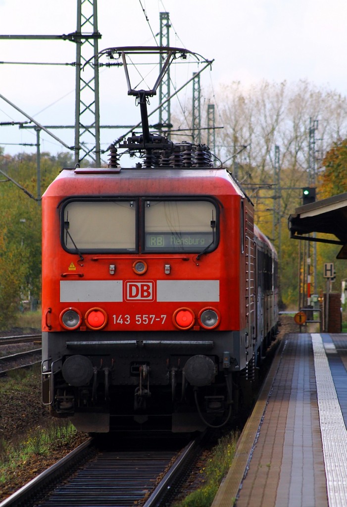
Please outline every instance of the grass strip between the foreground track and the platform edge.
[[232, 464], [238, 438], [239, 435], [232, 432], [219, 440], [205, 466], [200, 470], [203, 486], [174, 503], [173, 507], [210, 507], [223, 477]]

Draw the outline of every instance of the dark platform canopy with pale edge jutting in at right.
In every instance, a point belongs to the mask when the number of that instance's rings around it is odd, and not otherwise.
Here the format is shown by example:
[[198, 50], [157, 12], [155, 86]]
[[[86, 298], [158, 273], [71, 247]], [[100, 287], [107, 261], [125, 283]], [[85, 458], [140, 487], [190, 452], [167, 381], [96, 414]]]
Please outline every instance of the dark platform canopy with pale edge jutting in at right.
[[[341, 245], [336, 258], [347, 259], [347, 192], [299, 206], [289, 215], [288, 227], [291, 238]], [[314, 232], [335, 239], [320, 238], [318, 234], [309, 236]]]

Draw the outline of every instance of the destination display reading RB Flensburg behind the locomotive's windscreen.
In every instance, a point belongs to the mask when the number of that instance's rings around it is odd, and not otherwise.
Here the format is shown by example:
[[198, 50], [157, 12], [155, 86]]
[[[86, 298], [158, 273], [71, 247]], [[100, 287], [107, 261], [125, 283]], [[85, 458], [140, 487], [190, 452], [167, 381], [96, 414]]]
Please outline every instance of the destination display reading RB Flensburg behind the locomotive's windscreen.
[[213, 235], [211, 232], [146, 233], [145, 239], [147, 251], [201, 251], [210, 245]]

